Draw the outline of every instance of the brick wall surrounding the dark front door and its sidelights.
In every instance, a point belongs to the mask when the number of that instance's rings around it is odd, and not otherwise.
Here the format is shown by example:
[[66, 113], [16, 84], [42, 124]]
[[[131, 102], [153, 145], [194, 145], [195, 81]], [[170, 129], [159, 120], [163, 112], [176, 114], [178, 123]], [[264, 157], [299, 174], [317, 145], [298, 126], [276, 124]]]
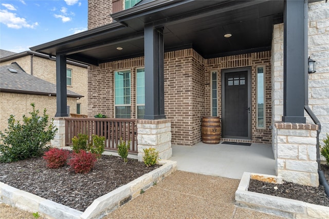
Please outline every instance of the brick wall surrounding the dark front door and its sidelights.
[[[218, 72], [218, 116], [222, 115], [222, 69], [251, 67], [251, 141], [248, 140], [234, 140], [238, 142], [252, 142], [252, 143], [270, 143], [272, 124], [271, 119], [271, 52], [248, 53], [241, 55], [232, 55], [226, 57], [218, 57], [206, 59], [205, 70], [205, 84], [206, 84], [206, 108], [205, 114], [210, 115], [210, 72], [217, 70]], [[256, 110], [257, 110], [257, 96], [256, 96], [256, 77], [257, 67], [264, 66], [265, 70], [265, 129], [257, 129], [256, 127]], [[223, 141], [230, 141], [223, 138]]]

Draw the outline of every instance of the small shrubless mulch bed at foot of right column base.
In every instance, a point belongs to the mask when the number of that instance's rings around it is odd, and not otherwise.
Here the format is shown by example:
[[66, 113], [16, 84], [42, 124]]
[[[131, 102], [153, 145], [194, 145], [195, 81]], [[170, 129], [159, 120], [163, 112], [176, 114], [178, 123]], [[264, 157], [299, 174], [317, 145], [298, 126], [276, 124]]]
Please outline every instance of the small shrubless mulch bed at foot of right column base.
[[[327, 182], [329, 182], [329, 167], [327, 165], [321, 165], [321, 170], [323, 171]], [[327, 197], [322, 185], [319, 187], [312, 187], [290, 182], [272, 184], [258, 180], [250, 180], [248, 191], [291, 198], [302, 202], [329, 207], [329, 198]]]

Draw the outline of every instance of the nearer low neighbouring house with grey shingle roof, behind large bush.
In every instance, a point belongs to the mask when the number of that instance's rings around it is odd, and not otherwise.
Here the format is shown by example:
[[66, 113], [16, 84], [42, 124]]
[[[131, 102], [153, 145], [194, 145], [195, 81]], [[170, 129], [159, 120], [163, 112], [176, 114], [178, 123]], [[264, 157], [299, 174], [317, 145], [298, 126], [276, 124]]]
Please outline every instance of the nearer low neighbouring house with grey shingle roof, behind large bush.
[[[76, 111], [77, 98], [82, 95], [67, 91], [67, 105]], [[15, 115], [17, 121], [32, 111], [31, 103], [43, 114], [47, 109], [49, 117], [56, 114], [56, 85], [26, 73], [16, 63], [0, 66], [0, 130], [8, 126], [9, 116]]]

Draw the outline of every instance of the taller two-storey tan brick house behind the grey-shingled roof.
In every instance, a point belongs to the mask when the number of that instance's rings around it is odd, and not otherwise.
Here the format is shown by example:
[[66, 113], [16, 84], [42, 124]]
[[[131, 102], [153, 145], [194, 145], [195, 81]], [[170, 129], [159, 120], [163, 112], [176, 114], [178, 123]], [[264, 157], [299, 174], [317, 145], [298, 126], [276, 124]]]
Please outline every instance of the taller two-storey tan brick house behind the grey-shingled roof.
[[[56, 84], [56, 57], [34, 52], [25, 51], [13, 53], [0, 50], [0, 66], [10, 65], [15, 62], [19, 64], [28, 74], [44, 79], [47, 82]], [[81, 94], [83, 97], [77, 99], [77, 110], [70, 113], [87, 114], [87, 65], [67, 61], [66, 64], [66, 85], [67, 89]]]

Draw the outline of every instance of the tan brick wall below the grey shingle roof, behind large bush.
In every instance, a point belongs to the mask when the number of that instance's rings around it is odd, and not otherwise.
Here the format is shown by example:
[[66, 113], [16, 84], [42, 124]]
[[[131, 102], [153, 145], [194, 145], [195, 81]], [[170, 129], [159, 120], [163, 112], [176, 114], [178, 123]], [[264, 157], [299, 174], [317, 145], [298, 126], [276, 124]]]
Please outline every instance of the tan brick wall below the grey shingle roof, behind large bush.
[[[76, 111], [76, 98], [68, 97], [67, 105], [70, 111]], [[11, 114], [15, 115], [15, 119], [22, 122], [22, 116], [29, 115], [32, 111], [31, 103], [35, 104], [35, 109], [39, 109], [40, 115], [43, 109], [47, 109], [49, 117], [56, 114], [56, 96], [32, 95], [20, 93], [0, 92], [0, 130], [4, 130], [8, 126], [8, 118]]]

